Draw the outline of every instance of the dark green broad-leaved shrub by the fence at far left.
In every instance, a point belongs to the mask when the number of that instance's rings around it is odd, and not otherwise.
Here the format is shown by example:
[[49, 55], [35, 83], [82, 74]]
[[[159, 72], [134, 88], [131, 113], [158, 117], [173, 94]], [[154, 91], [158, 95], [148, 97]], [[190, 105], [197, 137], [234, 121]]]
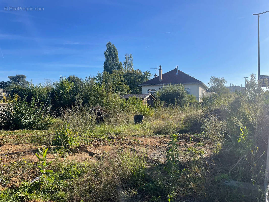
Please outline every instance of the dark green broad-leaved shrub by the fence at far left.
[[26, 99], [10, 103], [0, 112], [0, 128], [17, 129], [44, 129], [51, 124], [51, 119], [44, 116], [43, 105], [37, 106], [34, 99], [30, 103]]

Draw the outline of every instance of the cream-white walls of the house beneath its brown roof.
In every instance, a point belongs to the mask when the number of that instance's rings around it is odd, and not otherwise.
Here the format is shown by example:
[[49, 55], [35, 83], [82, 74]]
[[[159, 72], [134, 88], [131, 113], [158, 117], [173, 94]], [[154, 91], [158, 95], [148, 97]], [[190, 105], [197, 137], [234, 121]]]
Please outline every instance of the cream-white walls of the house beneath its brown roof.
[[[194, 95], [196, 100], [199, 102], [201, 102], [201, 97], [206, 95], [206, 87], [200, 83], [182, 83], [182, 85], [184, 86], [185, 90], [189, 92], [190, 95]], [[142, 93], [154, 94], [155, 91], [161, 90], [163, 86], [164, 85], [142, 85]]]

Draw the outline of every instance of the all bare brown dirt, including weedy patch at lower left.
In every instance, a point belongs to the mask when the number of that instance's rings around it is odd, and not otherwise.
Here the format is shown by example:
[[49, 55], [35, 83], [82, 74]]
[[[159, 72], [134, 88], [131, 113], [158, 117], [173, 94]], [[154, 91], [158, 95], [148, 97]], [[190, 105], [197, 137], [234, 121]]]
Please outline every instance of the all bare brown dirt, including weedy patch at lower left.
[[[31, 136], [33, 134], [29, 134]], [[24, 134], [27, 136], [27, 134]], [[178, 150], [185, 151], [188, 147], [196, 147], [204, 149], [205, 158], [212, 156], [212, 144], [207, 141], [200, 142], [200, 139], [193, 136], [190, 141], [189, 134], [180, 134], [178, 138]], [[12, 137], [11, 137], [12, 138]], [[101, 157], [111, 151], [126, 151], [130, 149], [133, 152], [143, 153], [147, 156], [147, 161], [153, 164], [165, 163], [167, 144], [169, 136], [150, 136], [150, 137], [115, 137], [111, 136], [108, 140], [96, 139], [89, 145], [80, 145], [78, 148], [71, 150], [68, 154], [56, 152], [56, 148], [50, 147], [47, 154], [47, 161], [54, 160], [74, 160], [76, 162], [96, 162]], [[197, 144], [200, 142], [200, 144]], [[22, 180], [31, 181], [38, 176], [36, 163], [38, 159], [35, 153], [38, 153], [38, 148], [48, 145], [29, 144], [24, 141], [17, 141], [16, 144], [6, 143], [0, 144], [0, 163], [1, 165], [12, 165], [15, 163], [25, 162], [33, 164], [33, 169], [23, 170], [19, 167], [16, 173], [12, 174], [10, 182], [5, 187], [0, 187], [0, 190], [7, 187], [17, 187]], [[52, 151], [53, 149], [53, 151]]]

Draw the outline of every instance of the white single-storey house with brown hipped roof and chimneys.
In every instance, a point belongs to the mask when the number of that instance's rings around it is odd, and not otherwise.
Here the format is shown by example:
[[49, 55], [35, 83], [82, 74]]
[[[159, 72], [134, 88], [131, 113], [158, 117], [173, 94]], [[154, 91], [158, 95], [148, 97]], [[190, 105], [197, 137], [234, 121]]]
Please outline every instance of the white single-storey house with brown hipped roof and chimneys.
[[162, 74], [162, 67], [159, 67], [159, 76], [155, 74], [153, 79], [139, 85], [142, 87], [142, 93], [154, 94], [156, 91], [162, 89], [165, 85], [182, 84], [184, 85], [186, 92], [189, 95], [194, 95], [199, 102], [201, 101], [201, 96], [206, 95], [207, 86], [198, 79], [185, 74], [184, 72], [178, 70], [177, 67]]

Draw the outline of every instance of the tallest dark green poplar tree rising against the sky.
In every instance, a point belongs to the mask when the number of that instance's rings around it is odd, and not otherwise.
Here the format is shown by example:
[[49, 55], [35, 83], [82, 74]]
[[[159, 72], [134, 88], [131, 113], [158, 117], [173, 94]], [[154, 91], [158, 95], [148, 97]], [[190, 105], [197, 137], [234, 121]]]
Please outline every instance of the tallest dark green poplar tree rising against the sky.
[[107, 50], [105, 51], [105, 62], [104, 62], [104, 71], [109, 74], [112, 73], [113, 70], [122, 70], [122, 63], [119, 62], [118, 50], [111, 44], [111, 42], [107, 42]]

